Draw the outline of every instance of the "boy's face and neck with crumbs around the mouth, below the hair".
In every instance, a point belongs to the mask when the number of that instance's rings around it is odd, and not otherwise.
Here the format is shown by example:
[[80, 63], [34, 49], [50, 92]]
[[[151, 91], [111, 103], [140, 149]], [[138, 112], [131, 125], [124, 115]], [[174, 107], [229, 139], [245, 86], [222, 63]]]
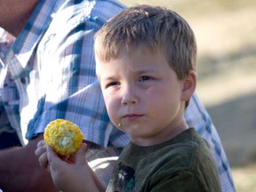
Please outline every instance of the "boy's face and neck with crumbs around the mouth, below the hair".
[[98, 61], [97, 73], [111, 121], [132, 142], [153, 145], [187, 128], [184, 80], [178, 80], [161, 52], [123, 52], [117, 60]]

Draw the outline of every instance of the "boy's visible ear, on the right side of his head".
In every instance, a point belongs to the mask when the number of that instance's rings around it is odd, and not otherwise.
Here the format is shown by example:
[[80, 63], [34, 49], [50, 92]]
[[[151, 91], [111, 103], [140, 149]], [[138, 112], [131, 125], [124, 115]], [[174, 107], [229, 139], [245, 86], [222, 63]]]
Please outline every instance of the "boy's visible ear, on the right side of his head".
[[189, 75], [183, 80], [183, 90], [181, 100], [190, 100], [192, 94], [196, 91], [196, 73], [190, 71]]

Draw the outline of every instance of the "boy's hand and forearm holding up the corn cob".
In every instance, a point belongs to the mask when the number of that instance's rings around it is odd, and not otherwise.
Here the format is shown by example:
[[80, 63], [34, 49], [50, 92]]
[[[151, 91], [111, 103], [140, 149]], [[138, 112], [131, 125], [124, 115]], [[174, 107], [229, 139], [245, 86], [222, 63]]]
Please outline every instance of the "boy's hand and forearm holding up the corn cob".
[[51, 172], [53, 183], [61, 191], [105, 191], [106, 187], [85, 160], [87, 145], [82, 143], [72, 156], [60, 156], [44, 140], [37, 143], [39, 164]]

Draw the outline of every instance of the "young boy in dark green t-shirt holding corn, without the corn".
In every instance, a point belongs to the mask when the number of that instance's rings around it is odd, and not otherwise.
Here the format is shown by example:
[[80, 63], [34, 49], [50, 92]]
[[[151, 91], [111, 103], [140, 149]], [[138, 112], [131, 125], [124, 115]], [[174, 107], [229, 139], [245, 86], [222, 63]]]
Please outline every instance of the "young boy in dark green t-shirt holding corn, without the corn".
[[[100, 29], [94, 47], [108, 115], [131, 138], [107, 191], [221, 191], [207, 143], [183, 117], [196, 89], [196, 39], [188, 23], [161, 7], [132, 7]], [[44, 142], [36, 149], [39, 162], [49, 161], [60, 190], [106, 190], [85, 162], [84, 145], [74, 164], [52, 148], [46, 158], [42, 148]]]

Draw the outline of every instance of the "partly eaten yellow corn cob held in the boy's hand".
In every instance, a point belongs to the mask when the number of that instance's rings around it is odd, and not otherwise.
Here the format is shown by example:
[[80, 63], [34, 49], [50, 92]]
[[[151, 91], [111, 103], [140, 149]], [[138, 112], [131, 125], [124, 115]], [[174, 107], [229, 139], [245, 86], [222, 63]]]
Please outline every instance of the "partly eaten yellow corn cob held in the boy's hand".
[[70, 156], [82, 144], [83, 133], [79, 127], [65, 119], [56, 119], [47, 124], [44, 130], [44, 141], [61, 156]]

